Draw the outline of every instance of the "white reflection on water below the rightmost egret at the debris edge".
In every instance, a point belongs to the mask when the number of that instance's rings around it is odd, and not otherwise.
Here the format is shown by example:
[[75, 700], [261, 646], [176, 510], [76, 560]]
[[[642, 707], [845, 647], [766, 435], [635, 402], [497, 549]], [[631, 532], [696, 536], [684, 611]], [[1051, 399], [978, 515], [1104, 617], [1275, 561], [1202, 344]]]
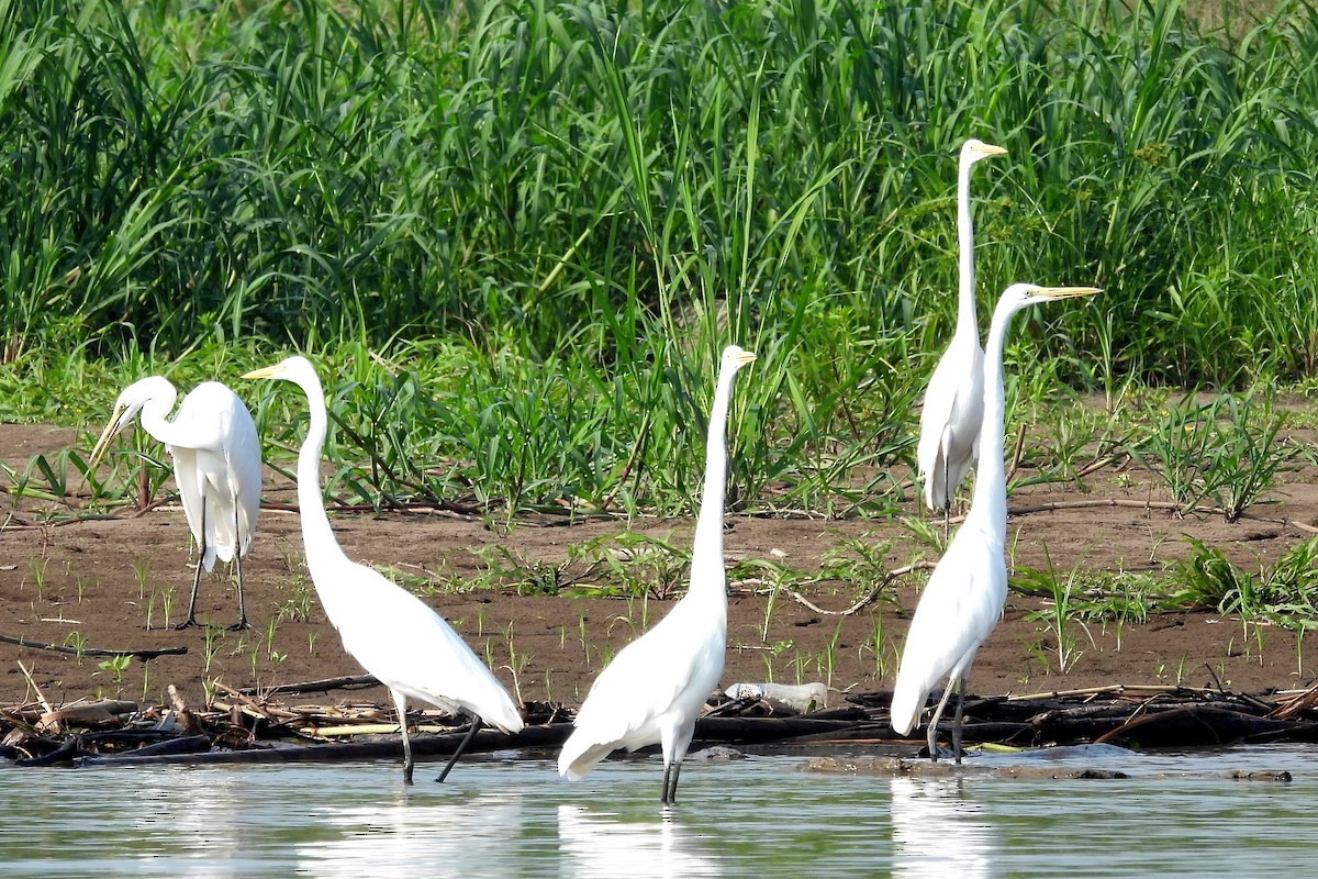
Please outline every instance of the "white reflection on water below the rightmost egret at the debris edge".
[[891, 779], [892, 875], [960, 876], [996, 874], [996, 834], [962, 779]]

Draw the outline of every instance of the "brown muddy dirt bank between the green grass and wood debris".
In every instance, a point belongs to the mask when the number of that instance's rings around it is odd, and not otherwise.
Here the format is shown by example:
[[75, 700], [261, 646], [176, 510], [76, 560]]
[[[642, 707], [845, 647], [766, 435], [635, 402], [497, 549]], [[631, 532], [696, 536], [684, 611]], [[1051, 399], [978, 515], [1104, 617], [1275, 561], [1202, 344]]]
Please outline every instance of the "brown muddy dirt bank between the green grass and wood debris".
[[[58, 451], [76, 439], [71, 430], [0, 426], [0, 460], [25, 464], [32, 455]], [[1311, 536], [1318, 526], [1318, 472], [1310, 465], [1286, 473], [1285, 485], [1271, 493], [1275, 502], [1253, 507], [1256, 518], [1236, 523], [1211, 514], [1181, 519], [1139, 506], [1166, 499], [1151, 474], [1130, 465], [1110, 469], [1087, 477], [1083, 493], [1029, 486], [1012, 496], [1014, 509], [1053, 505], [1011, 518], [1010, 553], [1017, 568], [1046, 569], [1050, 560], [1062, 575], [1077, 565], [1157, 571], [1188, 552], [1185, 536], [1220, 547], [1238, 564], [1257, 567]], [[275, 506], [291, 503], [291, 486], [272, 482], [265, 497]], [[1108, 501], [1131, 506], [1066, 506]], [[924, 515], [913, 499], [905, 506], [911, 515]], [[335, 514], [332, 523], [351, 557], [393, 567], [415, 582], [435, 572], [476, 581], [492, 579], [492, 563], [517, 567], [522, 581], [500, 589], [423, 596], [523, 700], [568, 706], [580, 702], [605, 660], [672, 602], [592, 596], [589, 580], [571, 582], [584, 563], [568, 564], [569, 553], [580, 553], [592, 540], [621, 551], [613, 540], [619, 534], [679, 547], [691, 539], [691, 522], [680, 519], [639, 519], [630, 526], [613, 519], [518, 525], [506, 534], [476, 521], [422, 511]], [[857, 584], [832, 580], [803, 588], [807, 601], [833, 611], [820, 613], [782, 590], [775, 594], [766, 575], [771, 564], [818, 571], [830, 553], [855, 556], [855, 547], [886, 544], [891, 544], [882, 556], [887, 569], [909, 563], [920, 551], [912, 530], [896, 521], [729, 517], [726, 547], [734, 577], [722, 685], [822, 681], [834, 691], [830, 704], [842, 704], [849, 692], [890, 689], [920, 576], [898, 579], [891, 590], [857, 613], [833, 615], [855, 602]], [[932, 557], [929, 551], [924, 555]], [[0, 528], [0, 635], [100, 650], [186, 647], [187, 652], [132, 659], [116, 668], [103, 658], [0, 643], [0, 705], [43, 698], [58, 706], [98, 696], [166, 704], [166, 688], [173, 684], [190, 705], [200, 706], [215, 681], [269, 692], [283, 684], [360, 673], [311, 589], [295, 514], [262, 511], [245, 563], [252, 630], [166, 627], [166, 604], [170, 626], [186, 613], [192, 577], [187, 556], [187, 526], [182, 510], [171, 506], [142, 514], [120, 510], [109, 518], [58, 526], [43, 523], [41, 511], [26, 502], [13, 510]], [[518, 594], [552, 592], [555, 579], [559, 594]], [[1246, 626], [1215, 613], [1177, 613], [1122, 625], [1072, 621], [1066, 637], [1074, 642], [1064, 673], [1049, 610], [1041, 598], [1012, 593], [1002, 625], [979, 652], [971, 675], [974, 692], [1180, 683], [1264, 693], [1306, 688], [1318, 668], [1314, 644], [1288, 630]], [[227, 580], [203, 577], [199, 619], [228, 626], [236, 615], [236, 594]], [[326, 698], [387, 704], [380, 688]]]

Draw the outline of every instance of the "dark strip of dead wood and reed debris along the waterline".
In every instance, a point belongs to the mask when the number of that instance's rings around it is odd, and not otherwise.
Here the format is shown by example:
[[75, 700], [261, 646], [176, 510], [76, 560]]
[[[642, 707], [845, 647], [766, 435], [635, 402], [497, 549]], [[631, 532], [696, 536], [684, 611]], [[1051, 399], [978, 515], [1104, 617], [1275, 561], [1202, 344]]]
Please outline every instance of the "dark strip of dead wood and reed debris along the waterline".
[[[170, 705], [99, 700], [63, 706], [0, 708], [0, 758], [14, 766], [75, 763], [257, 763], [391, 758], [397, 720], [387, 708], [352, 701], [294, 702], [277, 697], [328, 692], [310, 681], [281, 693], [253, 693], [216, 683], [204, 709], [171, 693]], [[344, 679], [343, 687], [361, 685]], [[797, 714], [767, 700], [712, 698], [696, 726], [695, 747], [731, 745], [778, 752], [890, 746], [911, 754], [923, 743], [888, 723], [891, 693], [853, 695], [850, 704]], [[523, 706], [517, 735], [482, 730], [472, 752], [556, 749], [572, 713], [551, 702]], [[418, 755], [445, 755], [465, 722], [442, 712], [411, 712]], [[1189, 687], [1098, 687], [1070, 692], [966, 698], [966, 742], [1016, 747], [1114, 743], [1131, 749], [1201, 747], [1318, 741], [1318, 691], [1248, 696]]]

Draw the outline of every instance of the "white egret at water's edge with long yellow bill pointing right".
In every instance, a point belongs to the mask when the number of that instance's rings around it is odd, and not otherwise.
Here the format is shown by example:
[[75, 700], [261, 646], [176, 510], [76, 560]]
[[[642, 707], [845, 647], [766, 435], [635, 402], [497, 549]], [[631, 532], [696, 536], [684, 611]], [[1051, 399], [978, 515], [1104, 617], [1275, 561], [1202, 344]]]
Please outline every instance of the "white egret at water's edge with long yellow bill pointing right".
[[920, 712], [934, 684], [944, 676], [948, 688], [929, 720], [929, 755], [938, 759], [934, 746], [938, 718], [952, 688], [961, 693], [952, 723], [952, 751], [961, 762], [961, 712], [966, 677], [979, 644], [998, 625], [1007, 601], [1007, 485], [1002, 440], [1004, 407], [1002, 386], [1002, 343], [1012, 315], [1027, 306], [1054, 299], [1087, 297], [1097, 287], [1040, 287], [1016, 283], [1002, 294], [988, 327], [985, 356], [985, 422], [979, 436], [979, 472], [966, 519], [952, 538], [929, 584], [920, 596], [911, 629], [907, 631], [892, 691], [892, 729], [902, 735], [919, 725]]

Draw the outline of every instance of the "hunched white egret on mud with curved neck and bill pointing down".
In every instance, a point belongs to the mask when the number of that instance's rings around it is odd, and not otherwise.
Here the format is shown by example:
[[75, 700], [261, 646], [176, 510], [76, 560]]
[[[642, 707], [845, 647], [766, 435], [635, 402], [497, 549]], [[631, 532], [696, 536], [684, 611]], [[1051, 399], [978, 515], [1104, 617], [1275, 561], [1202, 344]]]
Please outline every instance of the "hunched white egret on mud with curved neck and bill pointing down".
[[261, 440], [246, 406], [220, 382], [208, 381], [194, 387], [183, 398], [174, 420], [166, 420], [177, 398], [178, 391], [163, 376], [142, 378], [125, 387], [96, 440], [87, 472], [96, 469], [109, 441], [141, 411], [142, 428], [165, 443], [174, 459], [183, 514], [198, 546], [187, 619], [175, 629], [196, 625], [202, 568], [210, 572], [215, 559], [232, 561], [237, 569], [239, 621], [229, 629], [250, 629], [243, 600], [243, 556], [252, 546], [261, 511]]

